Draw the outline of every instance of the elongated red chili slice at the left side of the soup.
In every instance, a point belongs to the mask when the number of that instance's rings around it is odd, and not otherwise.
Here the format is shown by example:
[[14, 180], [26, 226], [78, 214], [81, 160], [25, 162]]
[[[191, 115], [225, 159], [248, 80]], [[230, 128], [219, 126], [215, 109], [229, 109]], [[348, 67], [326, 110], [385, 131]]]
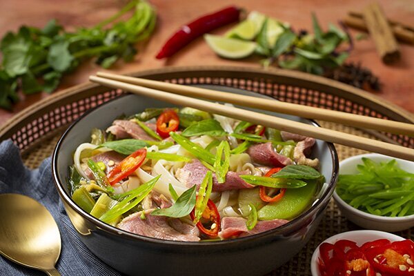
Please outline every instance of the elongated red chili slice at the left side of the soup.
[[146, 157], [146, 148], [141, 148], [131, 155], [128, 155], [124, 160], [119, 162], [115, 168], [108, 172], [109, 183], [113, 186], [119, 181], [128, 177], [128, 175], [135, 172], [139, 166], [142, 165]]

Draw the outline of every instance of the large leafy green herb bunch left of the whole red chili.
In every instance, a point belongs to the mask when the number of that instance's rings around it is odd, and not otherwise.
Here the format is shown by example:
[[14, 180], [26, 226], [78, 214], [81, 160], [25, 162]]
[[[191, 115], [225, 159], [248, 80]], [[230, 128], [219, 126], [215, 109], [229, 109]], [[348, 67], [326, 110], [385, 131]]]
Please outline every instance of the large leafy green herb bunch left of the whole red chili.
[[[128, 19], [114, 23], [130, 10]], [[0, 43], [0, 107], [10, 109], [19, 100], [18, 88], [25, 94], [52, 92], [84, 59], [95, 57], [103, 68], [119, 59], [132, 61], [136, 43], [148, 39], [156, 21], [154, 8], [135, 0], [92, 28], [67, 32], [52, 19], [43, 29], [22, 26], [17, 33], [8, 32]]]

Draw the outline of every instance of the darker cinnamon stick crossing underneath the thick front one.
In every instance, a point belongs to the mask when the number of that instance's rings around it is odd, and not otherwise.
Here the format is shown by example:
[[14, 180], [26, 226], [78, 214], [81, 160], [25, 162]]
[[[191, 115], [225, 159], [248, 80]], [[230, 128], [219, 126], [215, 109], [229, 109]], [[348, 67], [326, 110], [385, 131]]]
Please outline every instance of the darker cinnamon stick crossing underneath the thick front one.
[[[346, 24], [346, 26], [349, 26], [351, 28], [368, 31], [362, 13], [355, 11], [348, 12], [348, 15], [344, 18], [344, 23]], [[391, 30], [393, 30], [393, 34], [398, 41], [414, 45], [413, 27], [406, 26], [403, 23], [391, 21], [389, 19], [388, 24], [390, 24]]]

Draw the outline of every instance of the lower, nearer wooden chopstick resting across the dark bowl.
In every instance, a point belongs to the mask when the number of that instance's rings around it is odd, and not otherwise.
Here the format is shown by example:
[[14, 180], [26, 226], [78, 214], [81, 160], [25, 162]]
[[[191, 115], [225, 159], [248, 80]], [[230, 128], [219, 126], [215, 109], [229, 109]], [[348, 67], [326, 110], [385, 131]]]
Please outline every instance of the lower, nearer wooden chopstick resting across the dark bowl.
[[110, 88], [119, 88], [133, 92], [137, 95], [151, 97], [160, 101], [168, 101], [169, 103], [177, 104], [179, 106], [190, 106], [192, 108], [206, 110], [208, 112], [232, 117], [242, 121], [250, 121], [255, 124], [261, 124], [269, 128], [295, 132], [299, 135], [310, 136], [316, 139], [322, 139], [324, 141], [351, 146], [353, 148], [360, 148], [371, 152], [378, 152], [384, 155], [414, 161], [414, 149], [411, 148], [404, 148], [403, 146], [396, 146], [393, 144], [384, 143], [382, 141], [376, 141], [365, 137], [358, 137], [327, 128], [318, 128], [316, 126], [265, 115], [250, 110], [244, 110], [231, 106], [223, 106], [219, 103], [175, 95], [169, 92], [147, 88], [144, 86], [136, 86], [131, 83], [115, 81], [113, 79], [105, 79], [97, 76], [90, 76], [89, 79], [90, 81], [99, 83], [103, 86], [108, 86]]

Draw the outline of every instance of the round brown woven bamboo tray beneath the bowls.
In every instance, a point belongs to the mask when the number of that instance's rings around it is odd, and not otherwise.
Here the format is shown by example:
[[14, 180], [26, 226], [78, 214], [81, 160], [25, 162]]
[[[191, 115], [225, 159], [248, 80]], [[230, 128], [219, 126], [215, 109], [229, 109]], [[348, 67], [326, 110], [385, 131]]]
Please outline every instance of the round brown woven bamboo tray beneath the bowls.
[[[231, 86], [269, 95], [280, 101], [299, 103], [319, 108], [352, 112], [382, 119], [414, 123], [414, 116], [383, 99], [337, 81], [285, 70], [262, 70], [229, 66], [197, 66], [162, 68], [130, 74], [159, 81], [197, 85], [215, 84]], [[99, 106], [118, 95], [121, 90], [110, 90], [92, 83], [57, 92], [23, 110], [0, 128], [0, 141], [12, 139], [21, 149], [23, 161], [29, 168], [36, 168], [50, 156], [63, 130], [86, 110]], [[318, 121], [325, 128], [354, 135], [382, 139], [408, 148], [414, 148], [414, 138], [386, 132], [358, 130], [340, 124]], [[365, 153], [363, 150], [335, 145], [339, 159]], [[314, 237], [290, 262], [269, 275], [311, 275], [310, 261], [313, 250], [327, 237], [358, 226], [347, 221], [331, 201]], [[413, 238], [412, 229], [397, 235]]]

